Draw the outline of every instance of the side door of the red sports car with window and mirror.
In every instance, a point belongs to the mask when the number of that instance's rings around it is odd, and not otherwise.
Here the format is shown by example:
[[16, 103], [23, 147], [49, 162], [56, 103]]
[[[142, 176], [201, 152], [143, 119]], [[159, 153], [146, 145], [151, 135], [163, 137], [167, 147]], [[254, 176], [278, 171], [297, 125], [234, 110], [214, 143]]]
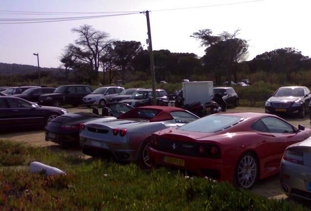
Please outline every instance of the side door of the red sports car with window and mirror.
[[271, 134], [276, 137], [277, 145], [274, 151], [278, 154], [279, 161], [282, 159], [285, 148], [308, 138], [306, 133], [297, 131], [296, 128], [282, 119], [276, 117], [265, 117], [262, 121], [268, 127]]

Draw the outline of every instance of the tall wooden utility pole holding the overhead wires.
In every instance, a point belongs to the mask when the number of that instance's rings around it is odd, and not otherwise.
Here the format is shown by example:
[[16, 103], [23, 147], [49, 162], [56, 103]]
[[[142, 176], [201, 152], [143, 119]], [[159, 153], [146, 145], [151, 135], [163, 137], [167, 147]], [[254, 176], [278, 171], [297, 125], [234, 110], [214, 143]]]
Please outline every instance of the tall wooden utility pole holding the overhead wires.
[[151, 69], [151, 82], [152, 82], [152, 95], [153, 95], [153, 105], [156, 105], [156, 92], [155, 92], [155, 61], [154, 61], [154, 52], [152, 49], [151, 41], [151, 30], [150, 30], [150, 20], [149, 20], [149, 11], [146, 11], [147, 17], [147, 28], [148, 28], [148, 50], [150, 55], [150, 69]]

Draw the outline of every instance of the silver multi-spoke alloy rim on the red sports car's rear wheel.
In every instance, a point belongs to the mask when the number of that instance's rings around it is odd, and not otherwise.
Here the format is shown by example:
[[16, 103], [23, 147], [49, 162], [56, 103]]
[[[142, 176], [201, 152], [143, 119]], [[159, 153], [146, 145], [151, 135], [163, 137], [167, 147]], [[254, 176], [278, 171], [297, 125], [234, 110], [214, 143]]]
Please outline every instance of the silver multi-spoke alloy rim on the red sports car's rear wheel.
[[250, 188], [257, 175], [257, 164], [255, 159], [250, 156], [244, 156], [238, 165], [238, 183], [244, 189]]

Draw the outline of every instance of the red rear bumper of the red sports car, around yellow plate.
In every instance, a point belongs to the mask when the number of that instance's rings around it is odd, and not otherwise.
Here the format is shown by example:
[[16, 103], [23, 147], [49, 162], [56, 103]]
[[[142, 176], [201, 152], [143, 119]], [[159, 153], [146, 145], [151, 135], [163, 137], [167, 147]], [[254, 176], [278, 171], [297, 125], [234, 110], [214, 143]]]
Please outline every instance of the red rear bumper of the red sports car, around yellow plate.
[[[233, 168], [224, 167], [222, 164], [222, 159], [185, 156], [159, 151], [154, 148], [149, 148], [148, 154], [152, 166], [154, 167], [170, 166], [178, 169], [185, 169], [199, 176], [207, 176], [218, 181], [232, 182], [233, 180]], [[167, 163], [164, 161], [165, 157], [183, 160], [184, 166]]]

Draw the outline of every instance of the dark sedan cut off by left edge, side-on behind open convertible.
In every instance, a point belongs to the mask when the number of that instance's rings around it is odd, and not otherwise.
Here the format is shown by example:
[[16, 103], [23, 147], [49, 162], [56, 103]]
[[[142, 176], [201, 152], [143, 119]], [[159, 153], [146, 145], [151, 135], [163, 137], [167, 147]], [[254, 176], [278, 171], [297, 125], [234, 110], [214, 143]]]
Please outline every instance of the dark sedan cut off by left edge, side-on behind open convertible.
[[44, 127], [66, 113], [64, 108], [39, 106], [14, 96], [0, 97], [0, 129]]

